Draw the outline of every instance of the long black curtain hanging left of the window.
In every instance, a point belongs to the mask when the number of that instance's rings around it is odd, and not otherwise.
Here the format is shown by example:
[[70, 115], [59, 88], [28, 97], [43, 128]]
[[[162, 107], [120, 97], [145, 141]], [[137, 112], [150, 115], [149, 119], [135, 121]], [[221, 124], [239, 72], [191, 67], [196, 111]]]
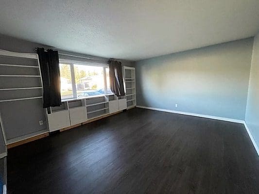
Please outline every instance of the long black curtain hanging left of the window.
[[60, 71], [58, 52], [38, 48], [39, 64], [43, 82], [43, 108], [60, 106]]

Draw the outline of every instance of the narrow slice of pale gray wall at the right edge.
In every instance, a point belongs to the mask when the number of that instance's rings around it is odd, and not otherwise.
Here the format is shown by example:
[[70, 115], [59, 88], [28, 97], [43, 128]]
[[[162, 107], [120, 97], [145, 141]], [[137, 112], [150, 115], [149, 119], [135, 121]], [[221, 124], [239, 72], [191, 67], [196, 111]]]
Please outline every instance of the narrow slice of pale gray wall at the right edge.
[[259, 146], [259, 33], [254, 41], [245, 122]]

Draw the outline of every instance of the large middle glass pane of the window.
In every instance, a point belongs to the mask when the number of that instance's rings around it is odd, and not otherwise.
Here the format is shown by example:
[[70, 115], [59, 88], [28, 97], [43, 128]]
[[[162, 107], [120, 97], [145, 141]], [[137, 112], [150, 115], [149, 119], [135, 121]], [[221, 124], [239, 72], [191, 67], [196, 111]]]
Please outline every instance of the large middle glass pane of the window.
[[74, 64], [78, 97], [104, 94], [104, 67]]

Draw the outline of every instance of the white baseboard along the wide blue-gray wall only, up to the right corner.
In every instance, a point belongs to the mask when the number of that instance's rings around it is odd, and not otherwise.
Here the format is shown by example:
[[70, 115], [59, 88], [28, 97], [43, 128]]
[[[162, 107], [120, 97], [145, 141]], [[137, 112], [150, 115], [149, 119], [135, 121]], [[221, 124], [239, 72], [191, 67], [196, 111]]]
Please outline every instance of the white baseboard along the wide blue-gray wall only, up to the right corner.
[[146, 107], [146, 106], [137, 106], [137, 108], [150, 109], [150, 110], [155, 110], [155, 111], [163, 111], [163, 112], [168, 112], [168, 113], [184, 114], [184, 115], [189, 115], [189, 116], [198, 116], [198, 117], [203, 117], [203, 118], [229, 121], [229, 122], [233, 122], [233, 123], [242, 123], [242, 124], [244, 123], [243, 120], [224, 118], [224, 117], [218, 117], [218, 116], [210, 116], [210, 115], [205, 115], [205, 114], [186, 113], [186, 112], [172, 111], [172, 110], [168, 110], [168, 109], [158, 109], [158, 108]]

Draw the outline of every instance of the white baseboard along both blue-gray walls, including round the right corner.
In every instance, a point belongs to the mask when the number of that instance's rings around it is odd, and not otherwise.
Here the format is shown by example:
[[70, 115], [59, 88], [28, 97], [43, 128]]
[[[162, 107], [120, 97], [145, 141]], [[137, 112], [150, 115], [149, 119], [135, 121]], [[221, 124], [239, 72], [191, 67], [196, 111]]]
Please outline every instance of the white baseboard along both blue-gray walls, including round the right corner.
[[195, 114], [195, 113], [186, 113], [186, 112], [180, 112], [180, 111], [172, 111], [172, 110], [167, 110], [167, 109], [158, 109], [158, 108], [153, 108], [153, 107], [146, 107], [146, 106], [137, 106], [137, 108], [142, 108], [142, 109], [150, 109], [150, 110], [155, 110], [155, 111], [163, 111], [163, 112], [168, 112], [168, 113], [177, 113], [177, 114], [184, 114], [184, 115], [190, 115], [190, 116], [198, 116], [198, 117], [203, 117], [203, 118], [210, 118], [210, 119], [216, 119], [216, 120], [222, 120], [222, 121], [229, 121], [233, 123], [241, 123], [244, 124], [244, 127], [253, 143], [253, 146], [255, 147], [257, 154], [259, 156], [259, 147], [256, 144], [256, 141], [250, 132], [247, 124], [243, 120], [237, 120], [237, 119], [232, 119], [232, 118], [224, 118], [224, 117], [218, 117], [218, 116], [210, 116], [210, 115], [205, 115], [205, 114]]

